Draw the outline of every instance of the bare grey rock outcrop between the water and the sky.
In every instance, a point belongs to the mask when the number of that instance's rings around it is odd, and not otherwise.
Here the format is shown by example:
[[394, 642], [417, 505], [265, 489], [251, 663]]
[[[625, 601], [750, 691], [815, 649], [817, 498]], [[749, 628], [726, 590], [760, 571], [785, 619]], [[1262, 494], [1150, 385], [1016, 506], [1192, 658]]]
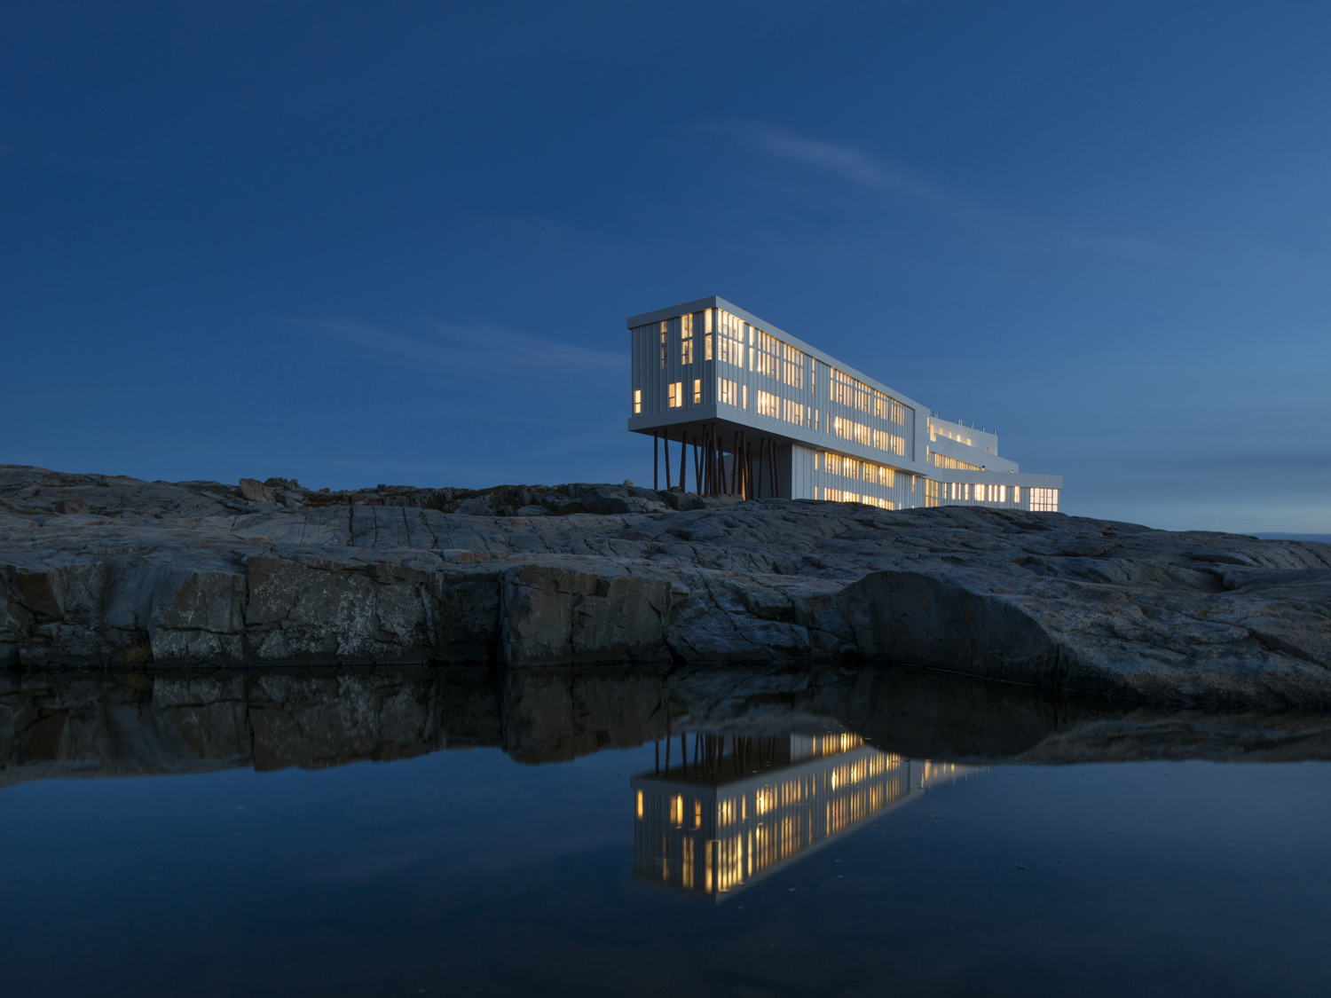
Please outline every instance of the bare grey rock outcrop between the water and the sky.
[[1173, 707], [1331, 705], [1326, 544], [632, 486], [463, 491], [3, 466], [0, 659], [904, 663]]

